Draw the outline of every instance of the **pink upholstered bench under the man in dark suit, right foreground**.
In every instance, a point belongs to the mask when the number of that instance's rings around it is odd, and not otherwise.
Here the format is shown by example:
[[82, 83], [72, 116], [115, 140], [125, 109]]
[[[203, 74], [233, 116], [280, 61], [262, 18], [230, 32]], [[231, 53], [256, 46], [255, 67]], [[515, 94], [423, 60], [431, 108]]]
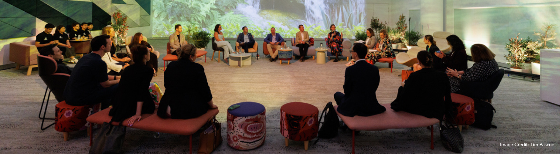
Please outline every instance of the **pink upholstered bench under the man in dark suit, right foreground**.
[[[385, 107], [385, 112], [376, 114], [374, 116], [362, 117], [346, 117], [338, 113], [338, 117], [352, 129], [352, 153], [354, 153], [355, 134], [354, 131], [382, 131], [385, 129], [398, 129], [398, 128], [417, 128], [417, 127], [430, 127], [432, 132], [431, 146], [433, 149], [433, 124], [440, 122], [436, 118], [426, 118], [418, 114], [408, 112], [395, 112], [391, 109], [391, 104], [381, 104]], [[336, 110], [338, 105], [334, 106]]]

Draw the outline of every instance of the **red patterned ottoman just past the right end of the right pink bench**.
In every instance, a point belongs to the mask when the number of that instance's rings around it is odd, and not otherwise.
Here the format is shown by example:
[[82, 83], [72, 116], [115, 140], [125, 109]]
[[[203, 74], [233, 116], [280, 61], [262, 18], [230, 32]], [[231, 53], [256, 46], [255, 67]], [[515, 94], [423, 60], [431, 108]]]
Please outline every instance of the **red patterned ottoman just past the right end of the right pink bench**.
[[457, 109], [452, 112], [455, 122], [452, 122], [452, 119], [446, 120], [459, 125], [459, 131], [463, 131], [463, 125], [468, 129], [469, 125], [474, 123], [474, 100], [465, 95], [451, 93], [451, 102], [452, 108]]

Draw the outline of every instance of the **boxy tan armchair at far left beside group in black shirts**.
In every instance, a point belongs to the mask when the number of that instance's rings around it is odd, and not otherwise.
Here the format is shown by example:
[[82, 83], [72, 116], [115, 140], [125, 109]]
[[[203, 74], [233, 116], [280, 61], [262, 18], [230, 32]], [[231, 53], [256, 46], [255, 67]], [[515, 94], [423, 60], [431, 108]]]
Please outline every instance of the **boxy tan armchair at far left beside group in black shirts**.
[[16, 62], [16, 70], [19, 70], [21, 65], [29, 66], [27, 75], [31, 75], [31, 70], [37, 67], [37, 55], [39, 51], [35, 41], [10, 43], [10, 61]]

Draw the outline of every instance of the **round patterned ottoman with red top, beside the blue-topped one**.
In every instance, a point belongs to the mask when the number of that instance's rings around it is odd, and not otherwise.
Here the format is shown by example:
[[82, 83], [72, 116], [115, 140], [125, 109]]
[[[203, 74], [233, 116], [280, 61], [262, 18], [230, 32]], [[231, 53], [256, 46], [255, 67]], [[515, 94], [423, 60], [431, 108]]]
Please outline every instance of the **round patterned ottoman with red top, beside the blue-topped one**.
[[304, 141], [305, 150], [309, 141], [317, 137], [319, 132], [319, 109], [314, 105], [292, 102], [280, 108], [280, 132], [293, 141]]

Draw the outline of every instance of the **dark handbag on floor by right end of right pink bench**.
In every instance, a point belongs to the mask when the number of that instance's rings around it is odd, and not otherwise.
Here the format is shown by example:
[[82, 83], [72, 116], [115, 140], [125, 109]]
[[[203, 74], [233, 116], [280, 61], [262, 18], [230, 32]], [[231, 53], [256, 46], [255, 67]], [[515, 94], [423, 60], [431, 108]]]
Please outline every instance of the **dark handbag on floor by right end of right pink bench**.
[[446, 150], [455, 153], [463, 152], [463, 135], [459, 132], [459, 127], [449, 122], [440, 121], [440, 137]]

